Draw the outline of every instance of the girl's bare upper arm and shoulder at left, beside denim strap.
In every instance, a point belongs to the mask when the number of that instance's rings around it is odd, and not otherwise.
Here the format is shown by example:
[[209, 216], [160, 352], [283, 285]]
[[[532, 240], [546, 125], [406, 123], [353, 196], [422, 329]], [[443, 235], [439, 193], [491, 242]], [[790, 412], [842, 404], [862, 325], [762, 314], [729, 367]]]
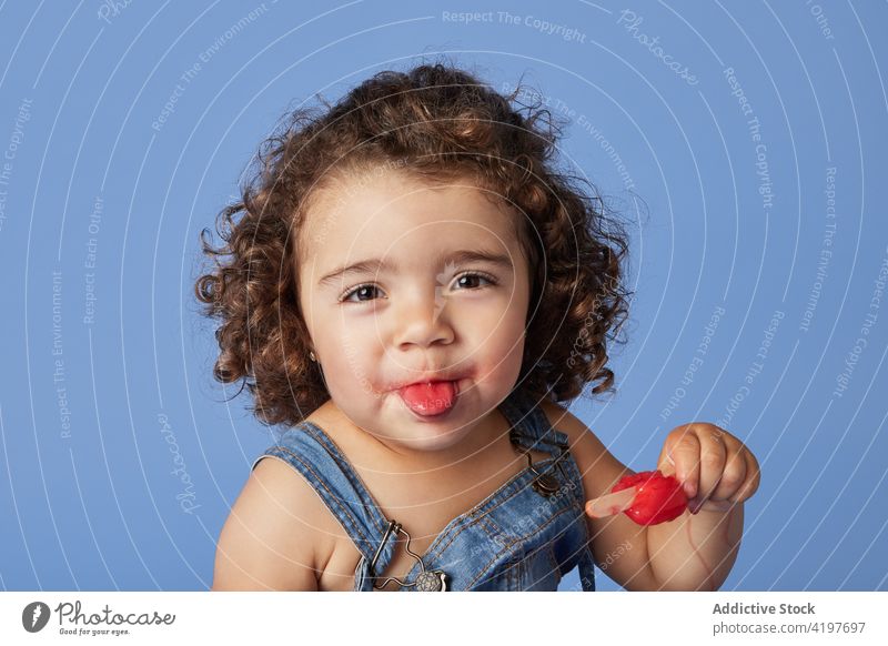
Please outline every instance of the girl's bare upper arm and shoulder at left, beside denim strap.
[[317, 589], [325, 514], [299, 472], [276, 457], [262, 458], [222, 527], [212, 589]]

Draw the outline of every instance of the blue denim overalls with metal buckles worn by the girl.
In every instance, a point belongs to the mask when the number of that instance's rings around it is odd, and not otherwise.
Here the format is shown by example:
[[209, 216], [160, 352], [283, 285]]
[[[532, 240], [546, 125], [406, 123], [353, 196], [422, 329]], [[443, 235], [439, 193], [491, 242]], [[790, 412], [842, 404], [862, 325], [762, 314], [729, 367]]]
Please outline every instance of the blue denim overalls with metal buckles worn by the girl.
[[[576, 566], [583, 591], [595, 589], [583, 483], [567, 451], [567, 435], [552, 428], [521, 391], [514, 390], [498, 407], [522, 452], [534, 448], [549, 457], [528, 464], [453, 518], [428, 551], [416, 555], [398, 589], [555, 591]], [[383, 516], [339, 447], [312, 422], [284, 432], [253, 467], [266, 456], [285, 461], [311, 483], [361, 552], [354, 589], [382, 587], [380, 574], [393, 556], [397, 534], [410, 527], [401, 531], [396, 518]]]

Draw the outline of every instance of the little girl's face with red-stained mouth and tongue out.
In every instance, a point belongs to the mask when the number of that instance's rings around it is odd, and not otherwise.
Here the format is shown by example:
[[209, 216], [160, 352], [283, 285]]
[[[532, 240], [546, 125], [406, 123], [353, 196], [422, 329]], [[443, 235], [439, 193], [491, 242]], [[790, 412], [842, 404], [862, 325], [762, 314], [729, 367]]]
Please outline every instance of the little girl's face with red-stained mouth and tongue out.
[[[397, 172], [317, 195], [299, 260], [314, 353], [339, 410], [398, 453], [458, 444], [516, 383], [529, 301], [516, 218], [468, 181], [433, 188]], [[502, 261], [446, 261], [466, 251]], [[455, 390], [398, 388], [430, 378]], [[423, 408], [430, 394], [438, 408]]]

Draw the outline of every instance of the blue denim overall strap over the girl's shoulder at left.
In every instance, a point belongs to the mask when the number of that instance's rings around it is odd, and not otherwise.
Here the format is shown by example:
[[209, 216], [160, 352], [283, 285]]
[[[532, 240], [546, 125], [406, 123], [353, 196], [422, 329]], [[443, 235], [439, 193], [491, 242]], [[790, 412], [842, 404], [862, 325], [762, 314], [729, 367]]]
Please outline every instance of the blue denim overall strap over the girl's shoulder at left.
[[306, 420], [289, 428], [253, 462], [251, 471], [268, 456], [283, 460], [309, 481], [366, 563], [374, 556], [382, 564], [390, 562], [394, 542], [383, 544], [389, 522], [361, 477], [320, 426]]

